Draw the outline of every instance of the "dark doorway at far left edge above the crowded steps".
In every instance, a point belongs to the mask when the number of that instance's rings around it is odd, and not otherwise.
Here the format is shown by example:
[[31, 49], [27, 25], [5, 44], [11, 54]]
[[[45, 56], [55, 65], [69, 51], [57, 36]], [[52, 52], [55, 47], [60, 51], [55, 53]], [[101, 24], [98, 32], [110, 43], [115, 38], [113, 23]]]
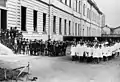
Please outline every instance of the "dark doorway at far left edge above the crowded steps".
[[7, 11], [1, 10], [1, 29], [6, 30], [7, 29]]

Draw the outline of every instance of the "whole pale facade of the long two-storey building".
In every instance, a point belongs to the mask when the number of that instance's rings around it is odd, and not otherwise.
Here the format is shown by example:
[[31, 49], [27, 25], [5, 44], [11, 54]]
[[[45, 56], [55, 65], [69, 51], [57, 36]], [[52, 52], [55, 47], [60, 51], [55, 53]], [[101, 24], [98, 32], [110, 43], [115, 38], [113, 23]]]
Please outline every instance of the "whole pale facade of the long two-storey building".
[[105, 24], [92, 0], [5, 0], [5, 9], [6, 27], [18, 27], [28, 39], [101, 36]]

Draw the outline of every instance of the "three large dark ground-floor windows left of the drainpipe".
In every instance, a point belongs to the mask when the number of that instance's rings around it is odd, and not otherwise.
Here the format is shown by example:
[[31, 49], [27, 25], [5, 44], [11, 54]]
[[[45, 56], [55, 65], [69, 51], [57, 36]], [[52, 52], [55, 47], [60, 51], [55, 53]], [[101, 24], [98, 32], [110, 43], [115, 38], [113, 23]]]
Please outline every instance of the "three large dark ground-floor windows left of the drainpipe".
[[[26, 7], [21, 7], [21, 30], [22, 31], [27, 31], [27, 28], [26, 28]], [[34, 32], [37, 32], [38, 28], [37, 28], [37, 25], [38, 25], [38, 22], [37, 22], [37, 19], [38, 19], [38, 12], [36, 10], [33, 10], [33, 31]], [[43, 13], [43, 32], [46, 33], [46, 13]]]

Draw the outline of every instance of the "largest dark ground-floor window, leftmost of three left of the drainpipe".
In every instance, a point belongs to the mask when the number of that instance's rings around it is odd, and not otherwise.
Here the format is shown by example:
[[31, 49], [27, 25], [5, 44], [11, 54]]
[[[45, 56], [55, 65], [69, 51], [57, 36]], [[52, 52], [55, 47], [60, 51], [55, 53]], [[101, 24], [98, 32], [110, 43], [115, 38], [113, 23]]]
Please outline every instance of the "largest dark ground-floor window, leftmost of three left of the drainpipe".
[[26, 7], [21, 6], [21, 30], [26, 31]]

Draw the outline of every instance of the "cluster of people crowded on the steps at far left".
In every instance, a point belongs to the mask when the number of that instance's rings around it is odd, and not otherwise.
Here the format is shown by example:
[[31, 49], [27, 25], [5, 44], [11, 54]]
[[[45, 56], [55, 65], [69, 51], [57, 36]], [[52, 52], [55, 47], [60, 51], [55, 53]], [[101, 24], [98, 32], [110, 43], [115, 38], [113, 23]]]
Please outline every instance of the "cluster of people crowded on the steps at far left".
[[17, 30], [17, 27], [11, 27], [10, 29], [6, 30], [1, 29], [0, 42], [8, 48], [12, 49], [13, 51], [15, 49], [15, 42], [20, 37], [23, 37], [22, 32]]

